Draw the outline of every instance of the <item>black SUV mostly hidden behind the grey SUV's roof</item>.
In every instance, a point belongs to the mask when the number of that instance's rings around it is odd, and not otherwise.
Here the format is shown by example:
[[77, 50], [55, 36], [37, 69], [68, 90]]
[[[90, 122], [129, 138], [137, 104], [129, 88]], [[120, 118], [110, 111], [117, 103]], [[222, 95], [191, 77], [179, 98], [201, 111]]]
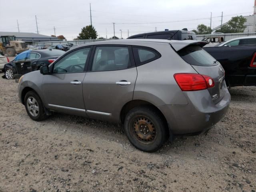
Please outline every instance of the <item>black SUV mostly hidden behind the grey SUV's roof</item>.
[[169, 40], [197, 40], [196, 34], [188, 29], [158, 31], [142, 33], [128, 37], [128, 39], [169, 39]]

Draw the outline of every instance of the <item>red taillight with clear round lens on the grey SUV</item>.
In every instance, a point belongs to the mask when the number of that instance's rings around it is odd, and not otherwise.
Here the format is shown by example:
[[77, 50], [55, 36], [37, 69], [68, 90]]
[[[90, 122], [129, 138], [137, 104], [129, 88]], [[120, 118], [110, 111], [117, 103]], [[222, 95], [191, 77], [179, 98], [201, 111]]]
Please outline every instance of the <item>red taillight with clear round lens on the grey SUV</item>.
[[198, 91], [214, 87], [214, 80], [206, 75], [176, 73], [174, 79], [182, 91]]

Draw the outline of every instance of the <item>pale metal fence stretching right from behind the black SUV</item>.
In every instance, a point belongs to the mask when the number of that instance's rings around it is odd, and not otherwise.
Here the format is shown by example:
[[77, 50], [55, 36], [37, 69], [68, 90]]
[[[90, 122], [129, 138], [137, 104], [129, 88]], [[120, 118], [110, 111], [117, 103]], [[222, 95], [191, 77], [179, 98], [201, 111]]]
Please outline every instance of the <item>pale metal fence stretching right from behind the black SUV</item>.
[[224, 41], [244, 36], [256, 36], [256, 32], [196, 35], [197, 40], [203, 40], [207, 37], [223, 37]]

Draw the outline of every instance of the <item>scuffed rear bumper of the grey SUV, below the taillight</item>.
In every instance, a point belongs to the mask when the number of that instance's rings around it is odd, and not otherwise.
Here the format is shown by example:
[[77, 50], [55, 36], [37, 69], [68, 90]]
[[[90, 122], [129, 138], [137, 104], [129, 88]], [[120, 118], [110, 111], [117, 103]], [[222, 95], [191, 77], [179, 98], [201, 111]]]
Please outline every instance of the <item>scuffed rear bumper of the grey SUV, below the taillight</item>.
[[164, 114], [173, 134], [200, 133], [210, 129], [226, 114], [231, 96], [224, 85], [224, 97], [214, 104], [208, 90], [184, 92], [188, 105], [164, 105]]

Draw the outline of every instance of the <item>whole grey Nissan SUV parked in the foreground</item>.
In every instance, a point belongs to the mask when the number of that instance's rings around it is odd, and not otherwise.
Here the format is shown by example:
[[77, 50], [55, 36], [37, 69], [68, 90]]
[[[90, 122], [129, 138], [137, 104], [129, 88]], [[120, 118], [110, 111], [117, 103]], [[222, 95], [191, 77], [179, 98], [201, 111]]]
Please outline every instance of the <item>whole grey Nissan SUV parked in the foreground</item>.
[[176, 134], [202, 133], [227, 112], [221, 64], [193, 40], [84, 44], [20, 78], [30, 118], [61, 112], [124, 124], [130, 142], [158, 150]]

